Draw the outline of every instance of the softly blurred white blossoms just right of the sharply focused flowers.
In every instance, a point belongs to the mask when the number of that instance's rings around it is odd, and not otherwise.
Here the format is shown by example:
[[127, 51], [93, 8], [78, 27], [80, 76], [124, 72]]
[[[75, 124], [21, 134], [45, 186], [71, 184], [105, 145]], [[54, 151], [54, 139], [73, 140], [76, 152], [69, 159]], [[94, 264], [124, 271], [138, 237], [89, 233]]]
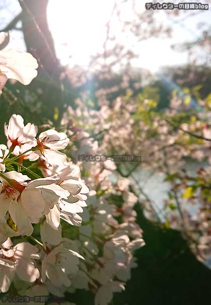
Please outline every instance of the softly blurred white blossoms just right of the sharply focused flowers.
[[[69, 108], [62, 120], [75, 162], [80, 160], [79, 155], [96, 156], [103, 151], [88, 132], [76, 127], [77, 111], [79, 108]], [[72, 278], [70, 291], [89, 289], [95, 293], [95, 305], [107, 305], [113, 292], [125, 289], [131, 268], [137, 266], [134, 251], [145, 245], [134, 210], [138, 198], [130, 191], [130, 180], [118, 173], [113, 161], [84, 159], [77, 165], [90, 192], [79, 227], [79, 250], [85, 261], [81, 261], [81, 269]]]

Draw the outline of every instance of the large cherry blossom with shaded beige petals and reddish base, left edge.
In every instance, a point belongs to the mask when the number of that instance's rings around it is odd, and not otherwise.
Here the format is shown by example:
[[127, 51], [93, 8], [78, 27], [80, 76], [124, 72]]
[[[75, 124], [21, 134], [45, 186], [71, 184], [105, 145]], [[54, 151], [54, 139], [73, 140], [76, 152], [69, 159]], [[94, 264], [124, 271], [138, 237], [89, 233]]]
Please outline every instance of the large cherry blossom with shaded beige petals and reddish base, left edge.
[[[7, 180], [6, 180], [7, 179]], [[21, 235], [33, 233], [32, 223], [48, 214], [50, 209], [62, 197], [67, 199], [69, 192], [56, 185], [56, 178], [47, 177], [30, 180], [27, 176], [11, 171], [1, 178], [1, 220], [7, 211], [16, 224], [16, 232]]]

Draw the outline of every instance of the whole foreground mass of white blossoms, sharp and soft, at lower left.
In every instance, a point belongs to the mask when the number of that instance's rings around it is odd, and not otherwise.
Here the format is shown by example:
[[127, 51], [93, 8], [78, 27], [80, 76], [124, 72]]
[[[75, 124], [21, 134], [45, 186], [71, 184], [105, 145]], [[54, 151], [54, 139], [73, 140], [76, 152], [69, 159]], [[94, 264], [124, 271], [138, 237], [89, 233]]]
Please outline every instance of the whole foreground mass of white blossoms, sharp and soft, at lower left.
[[[137, 197], [113, 162], [73, 164], [60, 151], [71, 149], [65, 132], [37, 132], [13, 114], [5, 124], [7, 146], [0, 145], [0, 289], [7, 292], [18, 278], [25, 281], [18, 294], [64, 296], [83, 288], [95, 294], [96, 305], [108, 304], [130, 279], [134, 250], [144, 245]], [[90, 139], [84, 145], [98, 149]], [[19, 236], [26, 242], [13, 246], [10, 238]]]

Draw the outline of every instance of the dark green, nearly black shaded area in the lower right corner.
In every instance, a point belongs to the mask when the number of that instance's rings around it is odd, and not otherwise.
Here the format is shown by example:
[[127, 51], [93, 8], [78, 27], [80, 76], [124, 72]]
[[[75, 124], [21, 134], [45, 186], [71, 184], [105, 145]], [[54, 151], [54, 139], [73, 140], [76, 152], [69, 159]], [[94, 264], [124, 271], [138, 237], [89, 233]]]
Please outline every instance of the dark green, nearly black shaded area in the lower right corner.
[[[190, 253], [179, 232], [148, 221], [137, 206], [146, 246], [137, 251], [138, 267], [114, 304], [206, 304], [211, 297], [210, 270]], [[67, 299], [93, 304], [91, 293], [77, 290]]]

